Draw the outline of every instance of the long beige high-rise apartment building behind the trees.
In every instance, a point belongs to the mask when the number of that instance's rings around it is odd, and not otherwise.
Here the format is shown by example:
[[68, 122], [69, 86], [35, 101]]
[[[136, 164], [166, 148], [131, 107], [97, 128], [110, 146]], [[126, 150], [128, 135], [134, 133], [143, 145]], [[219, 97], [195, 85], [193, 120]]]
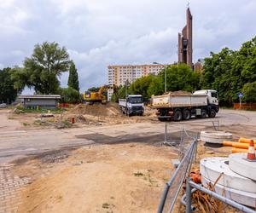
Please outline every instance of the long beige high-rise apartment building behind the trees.
[[[148, 76], [149, 74], [158, 75], [166, 65], [114, 65], [108, 66], [108, 84], [124, 86], [126, 82], [132, 83], [137, 78]], [[108, 89], [108, 100], [113, 95], [113, 89]]]

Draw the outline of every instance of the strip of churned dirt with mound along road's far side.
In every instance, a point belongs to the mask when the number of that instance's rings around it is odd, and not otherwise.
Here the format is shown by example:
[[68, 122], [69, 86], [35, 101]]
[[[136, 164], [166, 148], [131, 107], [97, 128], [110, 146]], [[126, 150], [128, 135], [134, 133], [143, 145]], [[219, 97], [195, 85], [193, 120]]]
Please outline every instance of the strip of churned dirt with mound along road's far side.
[[[79, 104], [58, 112], [50, 112], [54, 117], [41, 118], [40, 112], [15, 113], [9, 110], [9, 120], [20, 121], [19, 130], [37, 130], [55, 128], [61, 124], [64, 128], [82, 127], [86, 125], [109, 125], [109, 124], [134, 124], [145, 121], [155, 122], [155, 110], [145, 107], [143, 116], [125, 116], [119, 109], [117, 103]], [[75, 124], [71, 119], [75, 118]], [[61, 123], [60, 123], [61, 121]]]

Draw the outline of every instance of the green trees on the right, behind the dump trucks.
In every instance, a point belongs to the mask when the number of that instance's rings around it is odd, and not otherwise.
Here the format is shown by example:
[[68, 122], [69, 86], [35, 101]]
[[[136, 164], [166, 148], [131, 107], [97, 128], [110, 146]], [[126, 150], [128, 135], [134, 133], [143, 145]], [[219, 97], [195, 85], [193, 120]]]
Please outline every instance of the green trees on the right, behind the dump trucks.
[[127, 88], [120, 87], [112, 100], [125, 98], [128, 94], [141, 94], [149, 99], [151, 95], [165, 92], [165, 72], [167, 91], [189, 91], [197, 89], [216, 89], [220, 105], [231, 106], [238, 102], [238, 94], [243, 93], [243, 102], [256, 102], [256, 37], [243, 43], [239, 50], [222, 49], [210, 53], [204, 59], [203, 72], [194, 72], [186, 64], [166, 66], [159, 75], [138, 78]]

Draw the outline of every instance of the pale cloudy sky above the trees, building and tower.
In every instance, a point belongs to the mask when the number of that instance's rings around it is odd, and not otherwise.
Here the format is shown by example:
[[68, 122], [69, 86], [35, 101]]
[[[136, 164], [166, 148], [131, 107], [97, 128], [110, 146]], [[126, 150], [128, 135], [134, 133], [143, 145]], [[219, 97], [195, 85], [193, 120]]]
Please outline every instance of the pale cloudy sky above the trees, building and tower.
[[[187, 7], [184, 0], [0, 0], [0, 69], [22, 66], [44, 41], [67, 48], [81, 91], [108, 83], [108, 65], [171, 64]], [[256, 0], [191, 0], [189, 8], [194, 61], [256, 36]]]

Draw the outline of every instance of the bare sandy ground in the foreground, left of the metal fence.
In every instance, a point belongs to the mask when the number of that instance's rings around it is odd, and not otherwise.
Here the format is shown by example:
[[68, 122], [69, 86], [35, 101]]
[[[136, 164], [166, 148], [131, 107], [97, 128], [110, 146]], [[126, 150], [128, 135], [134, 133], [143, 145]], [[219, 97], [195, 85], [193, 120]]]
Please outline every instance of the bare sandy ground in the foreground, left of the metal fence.
[[131, 143], [84, 147], [54, 162], [33, 159], [14, 170], [35, 180], [18, 212], [155, 212], [171, 158], [177, 155], [169, 147]]

